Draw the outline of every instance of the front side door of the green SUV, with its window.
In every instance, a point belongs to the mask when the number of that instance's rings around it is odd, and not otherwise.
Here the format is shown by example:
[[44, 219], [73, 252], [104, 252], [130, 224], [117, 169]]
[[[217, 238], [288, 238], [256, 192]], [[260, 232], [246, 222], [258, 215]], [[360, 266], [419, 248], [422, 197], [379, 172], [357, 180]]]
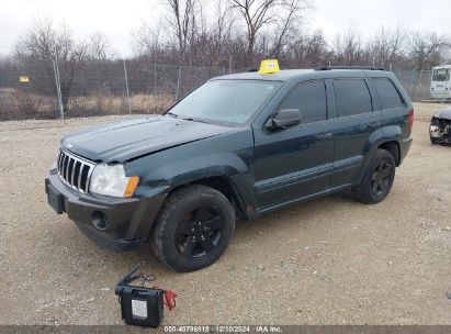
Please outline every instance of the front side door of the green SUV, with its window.
[[298, 109], [302, 123], [275, 132], [253, 130], [253, 175], [260, 208], [329, 188], [335, 120], [329, 116], [327, 93], [324, 80], [301, 82], [286, 94], [278, 110]]

